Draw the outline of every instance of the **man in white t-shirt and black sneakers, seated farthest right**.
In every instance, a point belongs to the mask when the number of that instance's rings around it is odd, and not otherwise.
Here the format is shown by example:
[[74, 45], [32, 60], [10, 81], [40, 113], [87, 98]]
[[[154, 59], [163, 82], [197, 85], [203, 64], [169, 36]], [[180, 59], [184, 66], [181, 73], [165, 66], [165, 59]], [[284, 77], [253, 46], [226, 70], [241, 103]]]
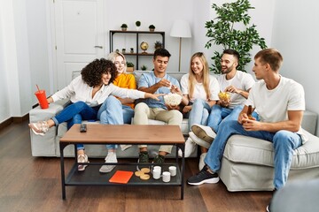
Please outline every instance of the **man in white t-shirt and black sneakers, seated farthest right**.
[[[284, 186], [292, 165], [293, 150], [307, 141], [301, 120], [305, 110], [303, 87], [279, 74], [283, 57], [276, 49], [263, 49], [254, 57], [255, 83], [236, 120], [222, 122], [219, 132], [206, 155], [204, 168], [187, 180], [188, 184], [217, 183], [217, 171], [227, 140], [233, 134], [251, 136], [273, 143], [275, 191]], [[258, 110], [261, 121], [248, 118], [248, 105]], [[267, 208], [268, 210], [268, 208]]]

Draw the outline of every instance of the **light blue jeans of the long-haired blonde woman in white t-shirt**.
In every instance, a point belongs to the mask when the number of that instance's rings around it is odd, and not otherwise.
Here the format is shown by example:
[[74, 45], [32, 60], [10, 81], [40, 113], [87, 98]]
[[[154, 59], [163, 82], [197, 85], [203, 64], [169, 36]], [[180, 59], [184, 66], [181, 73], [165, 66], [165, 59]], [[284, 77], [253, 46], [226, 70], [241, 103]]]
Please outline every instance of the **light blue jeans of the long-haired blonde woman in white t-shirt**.
[[191, 126], [194, 124], [206, 125], [210, 111], [211, 107], [205, 100], [196, 99], [191, 107], [189, 117], [189, 132], [191, 132]]

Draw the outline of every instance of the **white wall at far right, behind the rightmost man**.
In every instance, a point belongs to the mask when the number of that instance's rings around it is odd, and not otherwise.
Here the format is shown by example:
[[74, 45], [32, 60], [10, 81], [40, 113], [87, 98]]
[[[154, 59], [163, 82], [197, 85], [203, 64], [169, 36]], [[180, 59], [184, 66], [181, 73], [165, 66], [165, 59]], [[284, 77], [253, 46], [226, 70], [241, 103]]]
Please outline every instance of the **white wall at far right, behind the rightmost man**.
[[[319, 2], [315, 0], [276, 1], [272, 47], [284, 57], [281, 73], [304, 87], [307, 110], [319, 114]], [[319, 132], [317, 125], [316, 134]]]

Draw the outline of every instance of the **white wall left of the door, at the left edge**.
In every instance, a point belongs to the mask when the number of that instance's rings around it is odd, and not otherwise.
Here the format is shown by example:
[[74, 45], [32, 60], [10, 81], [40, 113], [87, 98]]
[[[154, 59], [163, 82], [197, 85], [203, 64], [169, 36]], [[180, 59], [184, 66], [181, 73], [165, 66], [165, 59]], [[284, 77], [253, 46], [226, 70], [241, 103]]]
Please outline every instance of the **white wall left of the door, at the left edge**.
[[47, 27], [45, 1], [0, 3], [0, 122], [22, 117], [35, 104], [35, 84], [48, 89]]

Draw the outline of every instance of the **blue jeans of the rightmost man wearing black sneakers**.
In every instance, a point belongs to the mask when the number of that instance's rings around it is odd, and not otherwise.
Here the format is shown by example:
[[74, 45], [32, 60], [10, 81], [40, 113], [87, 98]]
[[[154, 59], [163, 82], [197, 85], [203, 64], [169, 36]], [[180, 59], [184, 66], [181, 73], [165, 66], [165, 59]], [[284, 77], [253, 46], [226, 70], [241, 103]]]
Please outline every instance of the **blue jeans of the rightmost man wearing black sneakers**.
[[266, 131], [245, 131], [243, 125], [240, 125], [237, 120], [222, 121], [220, 130], [217, 133], [212, 146], [208, 149], [205, 158], [205, 163], [211, 170], [218, 171], [221, 169], [222, 154], [226, 142], [233, 134], [241, 134], [261, 140], [268, 140], [273, 143], [275, 151], [274, 186], [276, 189], [284, 186], [292, 165], [293, 150], [299, 148], [302, 144], [300, 135], [284, 130], [276, 133], [269, 133]]

